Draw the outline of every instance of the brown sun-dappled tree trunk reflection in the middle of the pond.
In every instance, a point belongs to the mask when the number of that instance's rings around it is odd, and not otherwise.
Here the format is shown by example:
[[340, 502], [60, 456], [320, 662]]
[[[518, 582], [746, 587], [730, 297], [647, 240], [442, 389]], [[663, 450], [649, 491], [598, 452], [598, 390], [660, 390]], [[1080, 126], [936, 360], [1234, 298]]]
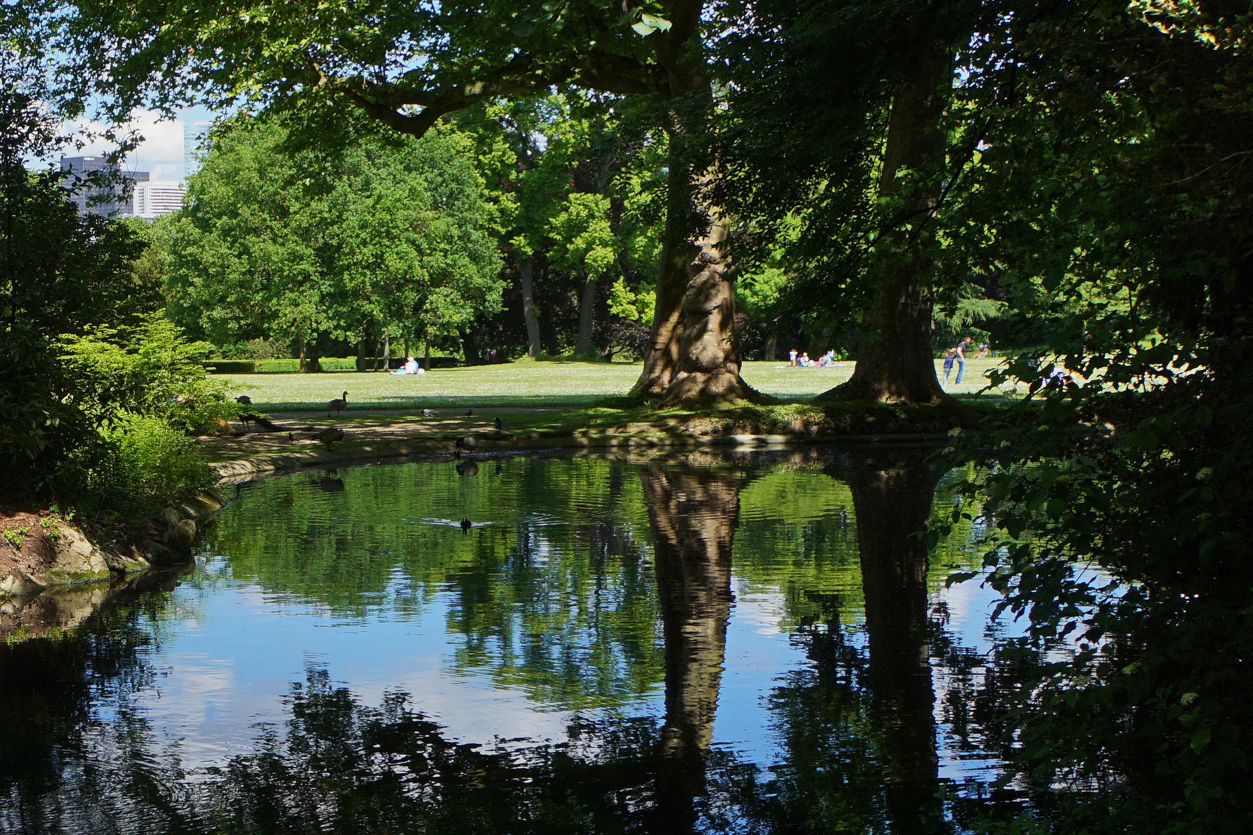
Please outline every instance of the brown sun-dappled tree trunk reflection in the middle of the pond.
[[674, 826], [695, 821], [694, 800], [704, 787], [733, 600], [730, 551], [742, 479], [697, 469], [647, 469], [642, 478], [665, 641], [657, 811]]

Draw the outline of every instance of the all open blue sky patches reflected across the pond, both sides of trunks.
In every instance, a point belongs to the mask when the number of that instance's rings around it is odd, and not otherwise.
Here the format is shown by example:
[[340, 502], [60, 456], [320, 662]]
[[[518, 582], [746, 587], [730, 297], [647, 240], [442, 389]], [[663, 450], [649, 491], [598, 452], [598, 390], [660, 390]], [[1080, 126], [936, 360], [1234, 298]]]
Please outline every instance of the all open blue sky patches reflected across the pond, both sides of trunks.
[[[223, 568], [218, 557], [202, 571]], [[405, 583], [396, 577], [376, 602], [403, 595]], [[767, 696], [784, 672], [808, 661], [801, 645], [781, 628], [786, 618], [782, 593], [746, 591], [738, 578], [732, 580], [732, 590], [736, 603], [727, 628], [713, 745], [768, 766], [777, 750], [768, 730]], [[239, 581], [208, 590], [184, 585], [174, 593], [195, 598], [195, 616], [174, 625], [155, 653], [160, 677], [132, 696], [130, 707], [178, 749], [188, 771], [223, 765], [231, 756], [252, 750], [259, 724], [286, 721], [286, 696], [293, 682], [303, 681], [309, 666], [326, 669], [333, 682], [348, 686], [366, 705], [378, 705], [387, 692], [408, 692], [417, 711], [460, 742], [560, 742], [575, 716], [535, 701], [521, 689], [501, 686], [487, 675], [454, 672], [450, 660], [461, 636], [447, 631], [449, 611], [455, 606], [447, 590], [429, 597], [416, 612], [397, 616], [382, 605], [363, 617], [335, 615]], [[947, 630], [957, 643], [979, 652], [989, 648], [987, 615], [996, 600], [991, 590], [967, 582], [932, 597], [932, 602], [936, 597], [947, 602]], [[850, 640], [865, 648], [862, 633], [855, 631]], [[940, 776], [974, 776], [991, 761], [946, 745], [944, 667], [936, 666], [933, 677]], [[624, 712], [660, 719], [660, 684]], [[110, 714], [101, 706], [98, 716], [108, 720]], [[598, 715], [581, 712], [585, 719]]]

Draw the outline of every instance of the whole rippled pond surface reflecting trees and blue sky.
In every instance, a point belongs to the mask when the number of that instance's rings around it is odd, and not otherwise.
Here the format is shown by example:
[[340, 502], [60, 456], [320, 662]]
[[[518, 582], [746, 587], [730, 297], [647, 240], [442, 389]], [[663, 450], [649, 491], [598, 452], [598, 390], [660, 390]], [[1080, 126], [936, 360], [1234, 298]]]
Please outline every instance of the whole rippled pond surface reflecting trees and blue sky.
[[[0, 832], [957, 832], [1006, 625], [926, 451], [233, 488], [194, 571], [0, 646]], [[469, 521], [465, 528], [462, 521]]]

